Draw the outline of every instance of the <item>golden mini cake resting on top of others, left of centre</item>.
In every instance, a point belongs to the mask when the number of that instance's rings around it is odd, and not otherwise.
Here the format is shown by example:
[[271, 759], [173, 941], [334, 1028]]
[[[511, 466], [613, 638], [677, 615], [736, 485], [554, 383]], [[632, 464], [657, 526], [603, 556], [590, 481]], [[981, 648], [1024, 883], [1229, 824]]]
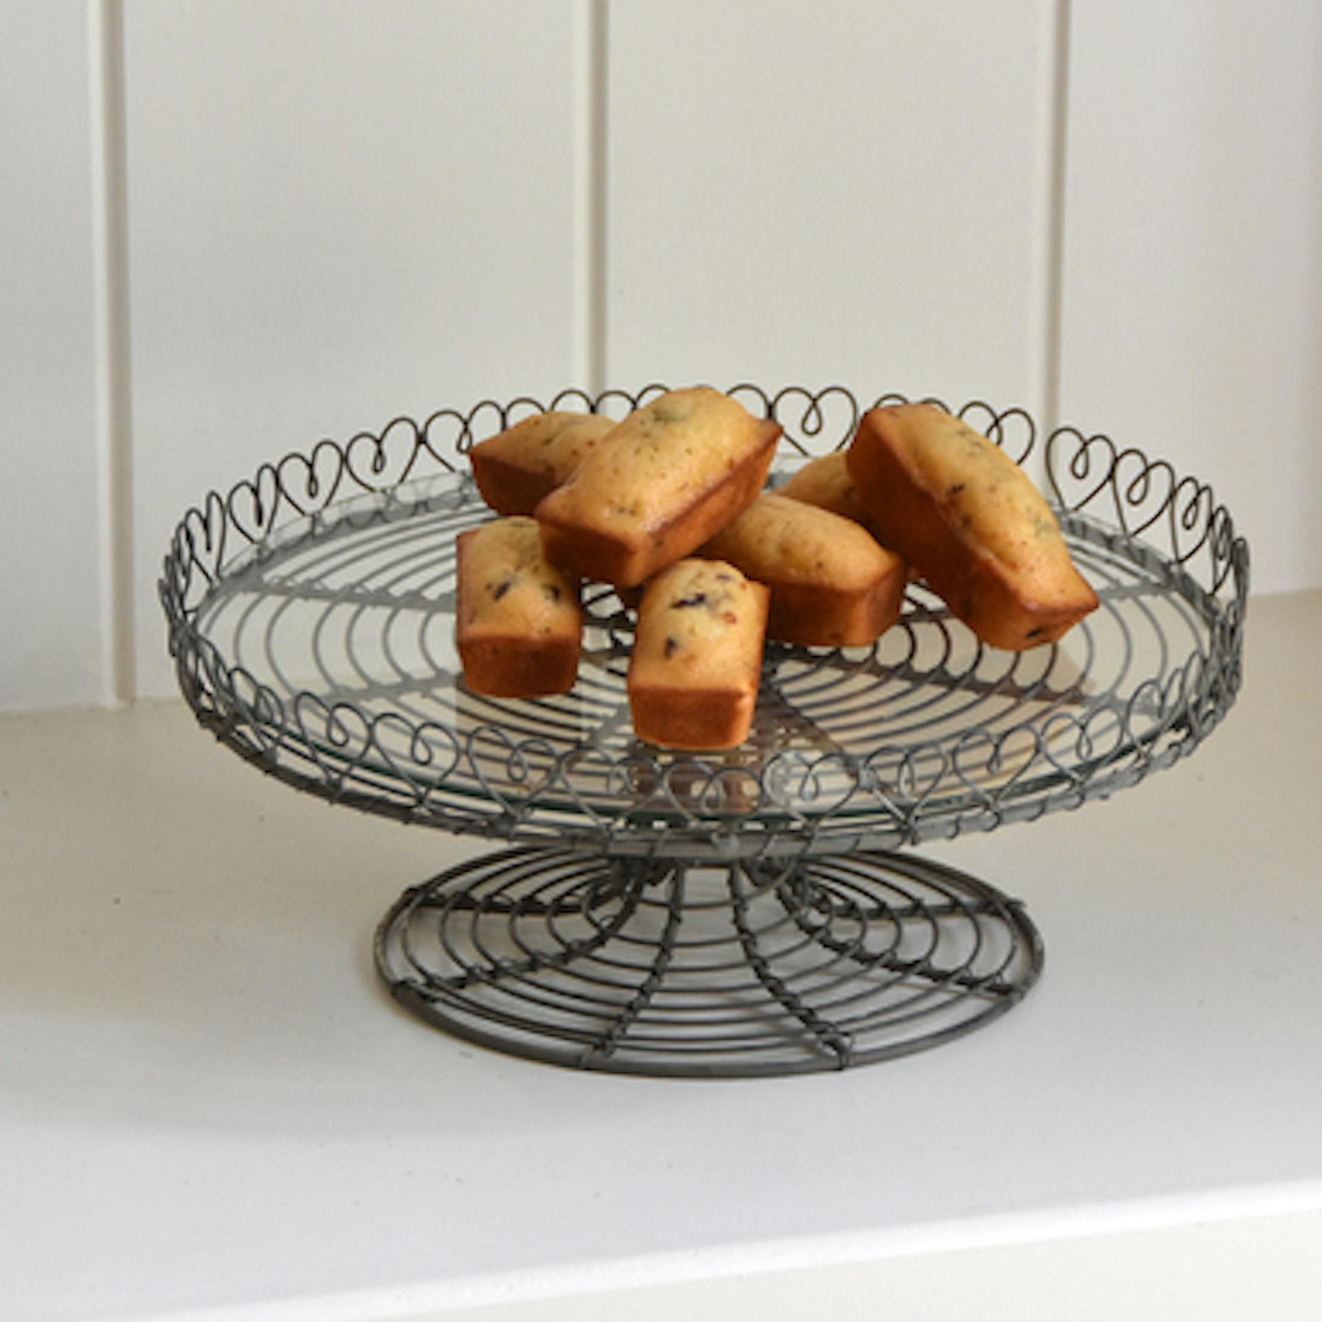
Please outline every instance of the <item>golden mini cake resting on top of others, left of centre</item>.
[[632, 587], [701, 546], [752, 504], [780, 424], [698, 386], [629, 414], [537, 506], [547, 559]]

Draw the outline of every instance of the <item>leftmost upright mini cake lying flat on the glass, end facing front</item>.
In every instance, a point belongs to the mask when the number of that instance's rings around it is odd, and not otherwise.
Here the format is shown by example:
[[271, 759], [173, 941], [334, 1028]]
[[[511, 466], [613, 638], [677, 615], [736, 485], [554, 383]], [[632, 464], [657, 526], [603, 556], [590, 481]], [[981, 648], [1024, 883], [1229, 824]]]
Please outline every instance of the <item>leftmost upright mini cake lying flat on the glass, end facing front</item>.
[[493, 698], [566, 693], [583, 639], [578, 584], [542, 555], [537, 521], [498, 518], [456, 538], [455, 635], [464, 681]]

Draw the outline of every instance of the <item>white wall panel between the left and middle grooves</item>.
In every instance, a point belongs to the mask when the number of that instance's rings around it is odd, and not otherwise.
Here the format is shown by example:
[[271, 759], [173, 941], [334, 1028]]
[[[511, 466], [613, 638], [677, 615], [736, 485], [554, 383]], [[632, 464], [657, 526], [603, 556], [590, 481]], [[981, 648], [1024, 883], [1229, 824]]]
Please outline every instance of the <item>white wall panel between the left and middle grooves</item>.
[[399, 414], [546, 393], [575, 338], [568, 0], [130, 4], [139, 670], [182, 512]]

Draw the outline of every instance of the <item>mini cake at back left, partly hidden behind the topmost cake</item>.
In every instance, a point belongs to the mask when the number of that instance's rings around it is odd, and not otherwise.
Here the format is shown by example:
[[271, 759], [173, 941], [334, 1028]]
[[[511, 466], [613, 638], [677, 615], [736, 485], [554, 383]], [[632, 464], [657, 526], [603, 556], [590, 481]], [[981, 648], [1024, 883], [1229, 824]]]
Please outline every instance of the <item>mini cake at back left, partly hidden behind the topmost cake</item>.
[[497, 514], [531, 514], [613, 428], [600, 414], [533, 414], [468, 452], [477, 490]]

